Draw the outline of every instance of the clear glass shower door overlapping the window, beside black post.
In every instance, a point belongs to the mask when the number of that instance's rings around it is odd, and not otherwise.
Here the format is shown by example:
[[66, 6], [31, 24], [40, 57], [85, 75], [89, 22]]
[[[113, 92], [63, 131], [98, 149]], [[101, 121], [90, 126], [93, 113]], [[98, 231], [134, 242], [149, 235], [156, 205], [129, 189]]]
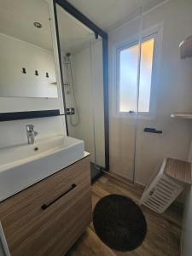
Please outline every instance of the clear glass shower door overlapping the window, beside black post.
[[[111, 32], [109, 40], [109, 170], [126, 182], [135, 181], [142, 12], [126, 28]], [[126, 30], [126, 37], [125, 37]], [[125, 40], [126, 38], [126, 40]], [[111, 55], [110, 55], [111, 53]]]

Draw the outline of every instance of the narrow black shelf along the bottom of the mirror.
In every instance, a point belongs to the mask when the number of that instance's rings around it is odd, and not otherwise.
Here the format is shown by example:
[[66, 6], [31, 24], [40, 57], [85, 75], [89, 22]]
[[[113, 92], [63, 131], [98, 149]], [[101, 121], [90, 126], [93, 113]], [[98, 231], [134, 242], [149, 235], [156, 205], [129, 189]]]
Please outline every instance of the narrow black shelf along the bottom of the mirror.
[[39, 118], [46, 118], [46, 117], [59, 116], [59, 115], [61, 115], [59, 109], [0, 113], [0, 122], [20, 120], [20, 119], [39, 119]]

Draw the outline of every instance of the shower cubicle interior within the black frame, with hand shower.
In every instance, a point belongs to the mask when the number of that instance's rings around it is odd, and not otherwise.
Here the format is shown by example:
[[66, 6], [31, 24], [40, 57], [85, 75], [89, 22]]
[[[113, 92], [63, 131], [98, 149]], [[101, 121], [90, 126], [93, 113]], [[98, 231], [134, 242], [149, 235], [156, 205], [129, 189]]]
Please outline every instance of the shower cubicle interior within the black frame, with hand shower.
[[56, 6], [69, 136], [84, 140], [91, 176], [105, 169], [102, 38]]

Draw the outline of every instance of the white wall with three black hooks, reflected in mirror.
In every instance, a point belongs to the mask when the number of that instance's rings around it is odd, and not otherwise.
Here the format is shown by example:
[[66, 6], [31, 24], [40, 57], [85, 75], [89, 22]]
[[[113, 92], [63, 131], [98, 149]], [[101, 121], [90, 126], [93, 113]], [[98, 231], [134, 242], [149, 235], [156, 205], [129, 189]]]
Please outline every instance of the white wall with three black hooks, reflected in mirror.
[[51, 84], [56, 82], [53, 50], [3, 33], [0, 49], [0, 96], [58, 97], [57, 85]]

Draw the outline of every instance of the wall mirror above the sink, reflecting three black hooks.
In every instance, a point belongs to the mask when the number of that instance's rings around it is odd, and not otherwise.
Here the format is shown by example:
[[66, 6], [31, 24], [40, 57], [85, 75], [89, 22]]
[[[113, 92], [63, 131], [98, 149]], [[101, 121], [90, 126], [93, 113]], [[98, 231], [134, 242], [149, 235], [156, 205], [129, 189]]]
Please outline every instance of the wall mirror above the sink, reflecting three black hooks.
[[0, 2], [0, 96], [58, 97], [44, 0]]

